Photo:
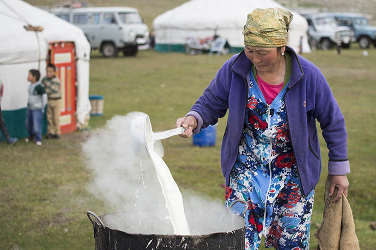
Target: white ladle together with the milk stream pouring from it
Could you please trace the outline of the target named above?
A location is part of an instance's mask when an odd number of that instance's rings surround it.
[[[154,143],[160,143],[161,139],[168,138],[184,132],[183,127],[154,133],[151,128],[150,118],[147,114],[138,116],[131,121],[130,139],[133,153],[140,158],[151,158],[157,174],[162,193],[166,200],[166,208],[169,212],[174,233],[189,235],[190,229],[186,221],[182,196],[175,180],[173,179],[168,166],[161,158],[163,147],[157,146],[154,150]]]

